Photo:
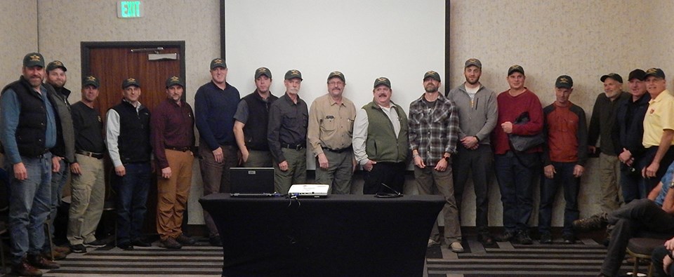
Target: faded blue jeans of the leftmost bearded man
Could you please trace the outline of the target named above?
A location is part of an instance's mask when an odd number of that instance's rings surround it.
[[[5,160],[9,181],[9,236],[11,259],[19,264],[28,254],[39,254],[44,244],[44,221],[51,207],[51,154],[41,158],[21,156],[28,178],[16,180],[11,162]]]

